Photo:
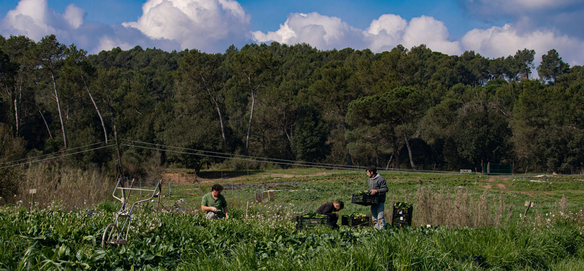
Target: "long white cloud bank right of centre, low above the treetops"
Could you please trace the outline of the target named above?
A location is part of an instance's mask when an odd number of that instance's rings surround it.
[[[353,47],[370,48],[381,52],[403,44],[406,48],[426,44],[433,51],[461,54],[460,43],[449,41],[444,23],[429,16],[413,18],[409,23],[399,15],[385,14],[374,19],[366,30],[356,29],[338,17],[291,13],[276,31],[255,31],[253,40],[258,43],[308,43],[320,50]]]

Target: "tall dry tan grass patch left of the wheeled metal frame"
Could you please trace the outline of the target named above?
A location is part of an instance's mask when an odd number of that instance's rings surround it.
[[[17,197],[31,206],[29,189],[36,189],[33,206],[44,207],[58,201],[65,207],[84,208],[107,199],[114,185],[113,180],[103,177],[98,171],[39,164],[24,172]]]

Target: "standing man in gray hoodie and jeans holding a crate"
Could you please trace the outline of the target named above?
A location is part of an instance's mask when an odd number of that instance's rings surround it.
[[[373,217],[373,226],[378,230],[385,227],[385,217],[383,216],[383,211],[385,210],[385,192],[389,189],[385,183],[385,178],[383,178],[379,173],[377,173],[377,168],[373,165],[367,167],[367,177],[369,177],[369,189],[371,195],[379,194],[379,200],[377,204],[371,205],[371,216]]]

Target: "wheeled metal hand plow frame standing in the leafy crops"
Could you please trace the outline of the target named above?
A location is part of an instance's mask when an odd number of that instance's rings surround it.
[[[128,240],[128,232],[130,231],[130,222],[132,219],[132,211],[134,210],[134,207],[140,202],[145,202],[145,201],[151,200],[155,196],[161,195],[160,192],[158,193],[158,195],[156,194],[157,190],[161,191],[160,190],[161,189],[161,187],[160,187],[161,182],[160,181],[156,184],[156,187],[154,189],[132,188],[132,186],[134,185],[134,180],[132,180],[132,182],[130,184],[130,188],[124,188],[123,184],[120,187],[120,182],[121,182],[121,178],[118,179],[117,184],[116,184],[116,188],[114,188],[112,196],[114,198],[116,198],[117,200],[120,200],[121,207],[120,207],[120,210],[116,214],[116,221],[112,224],[107,225],[106,229],[103,231],[102,248],[105,248],[106,245],[119,246],[119,245],[126,244],[126,241]],[[121,190],[121,199],[116,196],[116,191],[118,189]],[[128,191],[127,195],[124,192],[126,190]],[[128,202],[128,198],[130,198],[130,192],[132,192],[132,190],[152,191],[152,195],[148,199],[142,199],[142,200],[138,200],[137,202],[134,202],[132,207],[130,208],[130,210],[128,212],[126,212],[126,204]],[[124,223],[122,224],[121,228],[119,227],[120,217],[124,220]],[[126,230],[126,234],[124,234],[124,230]]]

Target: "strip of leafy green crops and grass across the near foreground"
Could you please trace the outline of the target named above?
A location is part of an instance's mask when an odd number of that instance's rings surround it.
[[[271,211],[270,211],[271,210]],[[270,212],[268,212],[270,211]],[[129,242],[99,247],[112,212],[0,208],[2,270],[581,270],[582,214],[502,228],[315,227],[274,209],[244,219],[137,212]]]

